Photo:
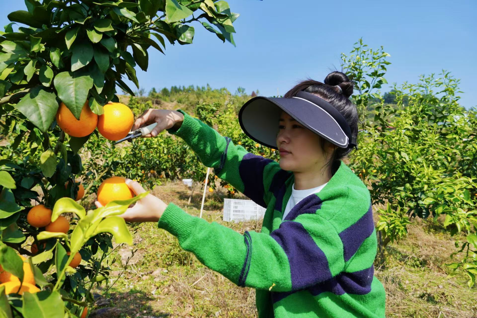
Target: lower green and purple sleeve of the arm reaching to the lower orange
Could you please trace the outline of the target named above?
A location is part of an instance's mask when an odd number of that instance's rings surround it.
[[[302,200],[303,201],[303,200]],[[342,241],[334,227],[316,213],[316,205],[301,205],[293,220],[270,235],[244,235],[188,215],[170,203],[158,227],[177,236],[179,245],[241,287],[287,292],[332,278],[344,267]]]

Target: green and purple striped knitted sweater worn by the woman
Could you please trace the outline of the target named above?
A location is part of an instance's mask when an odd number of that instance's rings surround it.
[[[158,227],[207,267],[238,286],[255,288],[259,318],[383,318],[385,292],[373,267],[377,239],[371,197],[361,179],[342,162],[319,193],[302,199],[282,221],[293,173],[179,112],[184,122],[168,132],[267,210],[261,232],[242,235],[170,203]]]

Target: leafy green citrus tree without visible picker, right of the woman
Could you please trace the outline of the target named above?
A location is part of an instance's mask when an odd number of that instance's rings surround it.
[[[459,105],[459,81],[443,71],[421,76],[417,84],[394,84],[396,104],[385,104],[372,89],[385,83],[389,54],[355,43],[343,66],[356,80],[353,98],[367,109],[371,97],[374,119],[363,121],[359,150],[351,167],[372,187],[381,247],[403,238],[411,218],[445,215],[444,226],[456,240],[460,259],[446,264],[449,277],[467,275],[472,287],[477,275],[477,113]],[[405,101],[405,103],[404,103]]]

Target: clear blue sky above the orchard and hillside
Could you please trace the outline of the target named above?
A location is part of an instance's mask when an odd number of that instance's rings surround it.
[[[0,25],[8,12],[25,10],[23,1],[2,1]],[[388,82],[414,83],[420,74],[451,71],[461,79],[461,104],[476,106],[473,77],[477,74],[475,19],[477,1],[318,1],[229,0],[237,47],[222,43],[199,22],[194,42],[166,43],[166,55],[149,49],[148,72],[136,67],[148,92],[172,85],[241,86],[247,93],[284,94],[297,81],[323,81],[340,68],[340,53],[363,37],[372,48],[391,54]],[[134,84],[128,82],[135,90]],[[119,89],[119,88],[118,88]],[[383,92],[389,91],[389,86]]]

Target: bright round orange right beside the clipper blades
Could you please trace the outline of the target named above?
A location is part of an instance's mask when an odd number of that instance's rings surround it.
[[[122,103],[107,103],[103,109],[104,114],[98,117],[98,131],[109,140],[124,138],[133,127],[133,112]]]

